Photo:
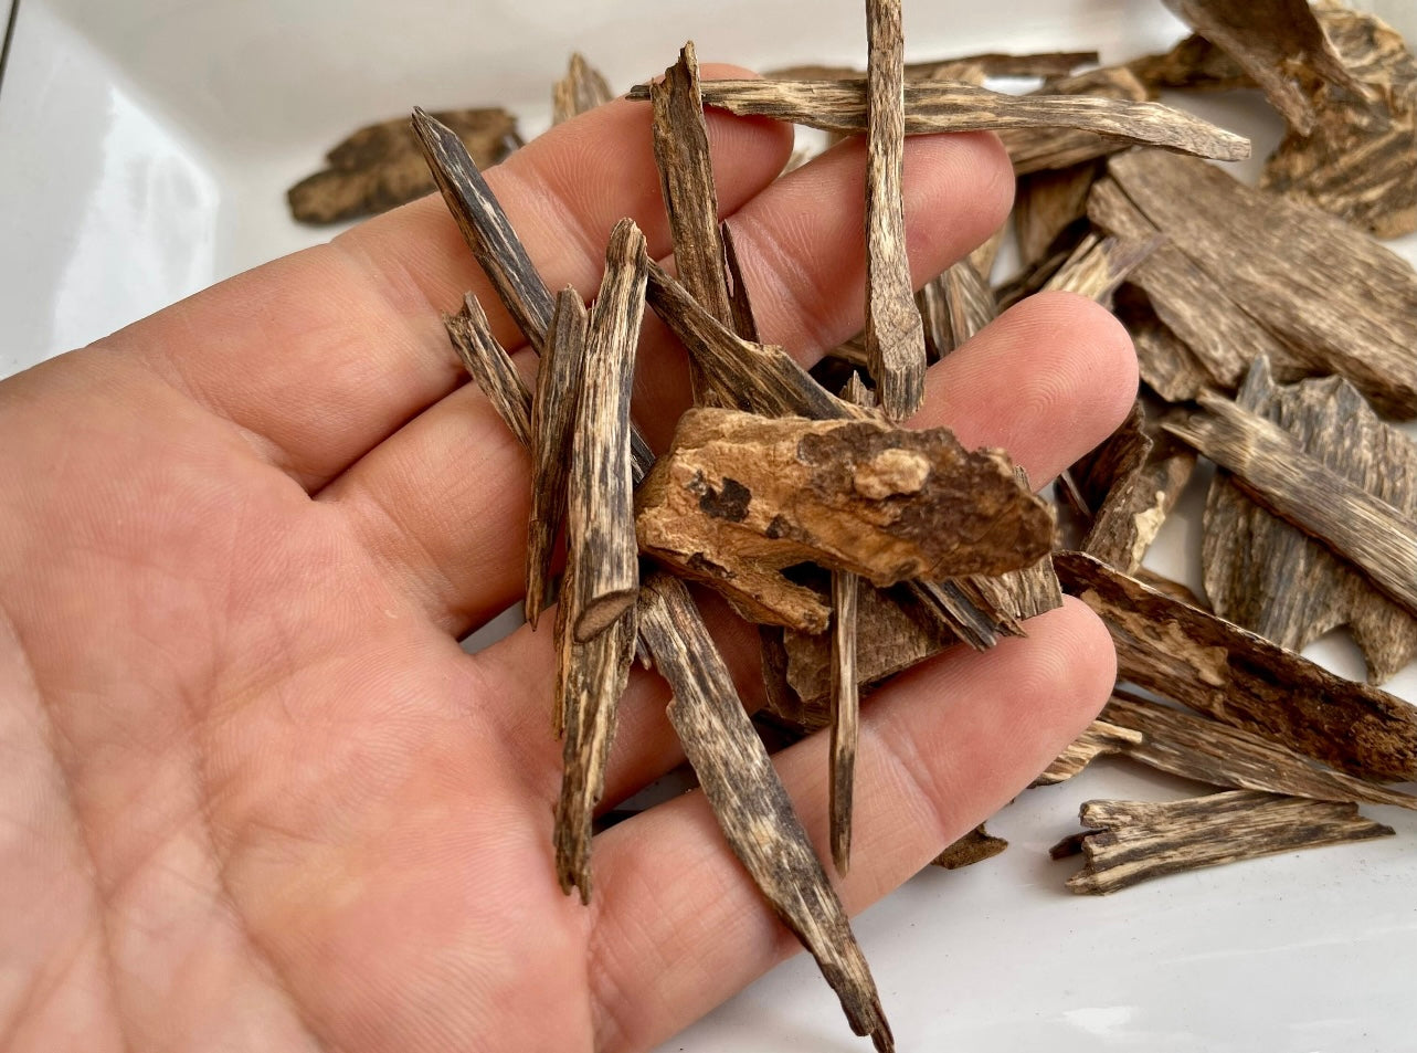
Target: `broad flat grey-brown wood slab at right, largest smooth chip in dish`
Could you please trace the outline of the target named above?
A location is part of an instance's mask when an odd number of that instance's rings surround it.
[[[1139,150],[1112,157],[1108,173],[1170,241],[1134,281],[1187,343],[1195,346],[1192,334],[1163,312],[1168,300],[1182,303],[1193,319],[1243,315],[1258,323],[1268,340],[1231,343],[1244,349],[1230,351],[1241,371],[1250,357],[1265,353],[1284,378],[1292,378],[1287,363],[1298,371],[1335,373],[1383,412],[1417,414],[1417,274],[1407,261],[1325,213],[1246,187],[1213,164]],[[1176,254],[1209,279],[1203,289],[1168,291],[1148,281],[1153,262]],[[1238,376],[1226,387],[1236,383]]]

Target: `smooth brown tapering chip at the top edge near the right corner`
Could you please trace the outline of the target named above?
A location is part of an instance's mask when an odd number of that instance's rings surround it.
[[[1314,129],[1308,82],[1363,94],[1323,35],[1308,0],[1165,0],[1190,28],[1223,48],[1299,135]]]

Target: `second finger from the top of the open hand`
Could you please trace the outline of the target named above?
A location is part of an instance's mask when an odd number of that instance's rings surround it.
[[[862,325],[863,166],[863,149],[847,143],[778,180],[731,220],[764,336],[803,361]],[[1009,173],[992,136],[910,140],[905,215],[920,281],[1003,221]],[[1091,323],[1074,325],[1087,330]],[[683,351],[662,329],[646,329],[636,415],[652,439],[663,439],[687,405]],[[1090,445],[1104,435],[1085,432]],[[520,595],[529,463],[482,394],[462,388],[371,451],[322,497],[340,502],[370,550],[407,577],[441,624],[462,632]]]

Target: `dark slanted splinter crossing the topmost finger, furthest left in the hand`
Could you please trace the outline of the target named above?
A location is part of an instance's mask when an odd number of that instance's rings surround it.
[[[478,171],[466,147],[445,125],[415,109],[414,132],[468,248],[496,289],[507,315],[517,323],[527,343],[541,354],[555,300],[531,264],[521,238],[512,228],[502,203]],[[638,429],[631,432],[631,448],[638,482],[655,463],[655,454]]]

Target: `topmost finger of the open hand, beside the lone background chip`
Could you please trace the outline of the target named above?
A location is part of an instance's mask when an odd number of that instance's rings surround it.
[[[706,75],[743,75],[731,67]],[[592,292],[605,237],[629,215],[669,251],[646,103],[567,122],[487,171],[547,283]],[[791,130],[708,115],[727,214],[775,177]],[[439,322],[472,289],[500,340],[520,334],[436,196],[330,245],[234,278],[111,337],[315,489],[462,383]]]

